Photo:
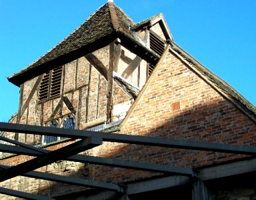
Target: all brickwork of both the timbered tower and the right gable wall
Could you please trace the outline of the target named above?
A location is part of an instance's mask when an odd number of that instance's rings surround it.
[[[102,53],[107,55],[107,49],[103,49]],[[97,51],[95,55],[101,57],[101,52]],[[101,62],[107,66],[104,56],[101,57]],[[84,58],[65,66],[71,67],[71,69],[65,71],[65,81],[69,80],[64,87],[65,95],[73,103],[75,109],[81,107],[79,111],[81,119],[79,127],[85,128],[87,122],[95,121],[95,119],[105,115],[107,81],[94,67],[91,67],[91,75],[89,75],[89,71],[84,70],[89,69],[89,63]],[[78,71],[83,73],[85,77],[74,79],[74,67],[78,67]],[[91,80],[89,80],[89,77]],[[77,84],[74,84],[73,81],[76,81]],[[31,87],[33,85],[32,82]],[[77,85],[79,85],[79,88]],[[27,95],[27,92],[24,94]],[[87,98],[89,98],[89,101],[87,101]],[[129,95],[114,84],[113,105],[129,100]],[[81,105],[79,105],[79,102]],[[51,115],[57,103],[58,99],[55,99],[46,101],[43,104],[43,120],[46,120]],[[88,110],[87,103],[89,103]],[[98,113],[97,109],[95,109],[97,106],[99,107]],[[29,107],[29,115],[34,113],[31,107]],[[63,105],[62,112],[66,115],[70,111]],[[23,123],[23,118],[26,118],[25,116],[26,114],[22,116],[21,121]],[[243,115],[227,99],[222,97],[218,91],[205,83],[200,75],[192,71],[171,52],[167,52],[159,65],[155,67],[151,77],[143,87],[135,103],[133,103],[127,117],[125,117],[120,131],[120,133],[131,135],[249,146],[256,145],[255,132],[255,123]],[[65,145],[65,143],[53,145],[49,149],[57,149],[61,145]],[[100,157],[193,168],[241,157],[227,153],[145,147],[142,145],[107,142],[85,153]],[[1,159],[1,163],[17,165],[17,163],[26,159],[31,159],[31,157],[18,156]],[[119,169],[117,167],[85,166],[69,162],[53,163],[39,170],[114,183],[159,175],[158,173]],[[18,186],[18,183],[24,179],[27,182],[21,188],[21,186]],[[43,195],[68,193],[74,191],[74,189],[79,190],[79,187],[64,186],[59,183],[52,183],[51,181],[39,181],[23,177],[15,177],[0,185],[12,187],[13,189],[19,187],[17,189],[21,191],[35,191],[35,193]],[[60,186],[61,190],[59,190]]]

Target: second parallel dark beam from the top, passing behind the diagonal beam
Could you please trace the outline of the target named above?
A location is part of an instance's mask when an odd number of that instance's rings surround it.
[[[6,145],[4,145],[6,146]],[[11,146],[11,145],[10,145]],[[13,146],[11,146],[13,147]],[[40,156],[40,153],[28,151],[26,149],[22,149],[21,147],[15,147],[15,149],[11,149],[11,147],[6,148],[9,152],[12,153],[19,153],[23,152],[25,155],[31,156]],[[1,145],[0,145],[1,150]],[[6,152],[6,151],[5,151]],[[45,152],[50,152],[45,150]],[[21,153],[22,154],[22,153]],[[181,167],[171,167],[168,165],[155,165],[151,163],[139,163],[135,161],[123,161],[117,159],[108,159],[103,157],[95,157],[89,155],[72,155],[71,157],[63,158],[67,161],[75,161],[80,163],[90,163],[94,165],[105,165],[110,167],[120,167],[125,169],[137,169],[141,171],[151,171],[157,173],[167,173],[171,175],[184,175],[184,176],[192,176],[195,177],[196,174],[193,172],[192,169],[189,168],[181,168]],[[0,165],[1,167],[1,165]]]

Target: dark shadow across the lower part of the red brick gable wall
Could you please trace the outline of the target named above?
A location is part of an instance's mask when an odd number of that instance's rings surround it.
[[[145,133],[143,136],[147,137],[226,143],[233,145],[256,145],[255,123],[245,117],[241,111],[233,107],[233,105],[227,101],[219,101],[209,105],[197,105],[192,109],[179,111],[177,117],[161,119],[158,124],[148,123],[144,127],[141,127],[138,120],[137,125],[137,129],[130,131],[127,129],[127,132],[121,130],[120,133],[131,135],[141,135],[141,133]],[[108,142],[103,143],[101,147],[95,148],[94,154],[99,157],[111,159],[138,161],[142,163],[154,163],[175,167],[189,167],[192,169],[216,165],[220,162],[245,157],[244,155],[234,155],[231,153],[215,153]],[[49,173],[51,173],[51,171],[49,171]],[[61,175],[81,177],[93,181],[103,181],[105,183],[128,183],[131,181],[148,179],[149,177],[163,176],[161,173],[91,164],[85,164],[81,169],[77,170],[73,170],[72,168],[63,169]],[[85,187],[51,182],[47,187],[39,187],[38,193],[41,195],[55,196],[63,195],[64,193],[78,193],[85,189]]]

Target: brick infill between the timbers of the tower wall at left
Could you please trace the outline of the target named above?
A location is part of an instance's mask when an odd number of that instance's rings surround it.
[[[123,47],[122,47],[123,48]],[[134,59],[135,55],[127,49],[123,48],[126,52],[125,55],[130,59]],[[93,52],[93,55],[101,61],[101,63],[108,68],[109,65],[109,47],[99,49],[98,51]],[[119,62],[119,70],[125,70],[129,63]],[[141,79],[138,81],[138,69],[135,69],[133,72],[135,75],[131,75],[129,80],[138,85],[143,85],[146,79],[146,65],[143,61],[143,74],[141,74]],[[142,68],[141,68],[142,69]],[[93,67],[85,59],[81,57],[71,63],[67,63],[63,66],[63,95],[69,99],[72,103],[76,113],[71,113],[65,103],[61,103],[61,108],[57,110],[55,116],[52,117],[53,111],[55,111],[57,105],[61,102],[61,98],[57,97],[54,99],[49,99],[47,101],[39,102],[37,100],[37,91],[33,94],[31,102],[29,103],[28,109],[21,116],[20,123],[32,124],[32,125],[48,125],[50,121],[56,119],[58,121],[58,127],[61,127],[63,120],[65,120],[66,115],[71,115],[75,120],[79,120],[77,124],[77,129],[85,129],[87,125],[97,119],[104,119],[106,116],[106,102],[107,102],[107,81],[99,71]],[[29,92],[35,85],[37,77],[27,81],[24,84],[24,90],[21,99],[24,102],[29,97]],[[122,103],[129,102],[129,106],[133,103],[133,98],[127,94],[119,85],[113,82],[113,107],[115,105],[122,105]],[[22,108],[22,107],[21,107]],[[126,112],[127,110],[125,110]],[[123,109],[120,111],[115,111],[115,114],[119,115],[119,112],[123,112]],[[112,112],[113,113],[113,112]],[[125,113],[122,113],[125,115]],[[113,121],[117,121],[118,116],[112,116]],[[13,134],[14,137],[14,134]],[[35,135],[25,135],[19,134],[19,141],[40,144],[41,137]],[[47,147],[47,149],[58,149],[67,143],[53,144]],[[101,147],[91,149],[86,151],[86,154],[97,155]],[[6,157],[1,158],[1,165],[18,165],[23,163],[32,157],[28,156],[15,156],[15,157]],[[47,165],[38,169],[39,171],[54,173],[59,175],[74,176],[74,177],[83,177],[85,179],[94,179],[95,177],[95,166],[86,165],[81,163],[59,161],[51,165]],[[20,183],[24,184],[20,184]],[[32,179],[26,177],[15,177],[13,179],[4,181],[0,183],[1,187],[7,187],[11,189],[17,189],[19,191],[27,191],[30,193],[38,193],[41,195],[53,195],[61,193],[69,193],[71,191],[79,190],[80,187],[74,187],[70,185],[63,185],[60,183],[53,183],[52,181],[43,181],[39,179]],[[83,187],[84,189],[84,187]],[[0,195],[1,199],[15,199],[14,197],[8,197],[5,195]]]

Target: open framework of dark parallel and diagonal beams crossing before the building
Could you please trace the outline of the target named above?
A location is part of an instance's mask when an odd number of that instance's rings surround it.
[[[67,160],[81,163],[91,163],[94,165],[106,165],[110,167],[121,167],[126,169],[137,169],[141,171],[151,171],[163,173],[165,175],[179,175],[181,177],[197,177],[197,173],[190,168],[172,167],[168,165],[155,165],[151,163],[138,163],[134,161],[125,161],[117,159],[108,159],[103,157],[95,157],[89,155],[79,155],[82,151],[86,151],[93,147],[102,145],[103,141],[127,143],[157,147],[169,147],[179,149],[193,149],[199,151],[214,151],[223,153],[235,153],[242,155],[256,155],[256,147],[242,147],[238,145],[227,145],[219,143],[205,143],[197,141],[183,141],[175,139],[161,139],[156,137],[143,137],[137,135],[124,135],[115,133],[101,133],[95,131],[81,131],[70,129],[57,129],[51,127],[38,127],[33,125],[19,125],[13,123],[0,123],[0,131],[13,133],[27,133],[33,135],[48,135],[56,137],[67,137],[76,140],[65,147],[61,147],[55,151],[39,149],[32,145],[20,143],[6,137],[0,136],[0,141],[6,141],[13,145],[5,145],[0,143],[0,152],[13,153],[17,155],[30,155],[35,158],[25,161],[16,166],[0,165],[0,181],[5,181],[16,176],[33,177],[59,183],[67,183],[71,185],[79,185],[84,187],[99,188],[105,191],[115,191],[115,193],[127,193],[127,187],[112,183],[103,183],[97,181],[89,181],[75,177],[65,177],[63,175],[55,175],[50,173],[42,173],[34,171],[45,165],[49,165],[56,161]],[[126,188],[126,190],[124,189]],[[129,191],[129,189],[128,189]],[[13,189],[0,187],[0,193],[21,197],[25,199],[51,199],[49,197],[33,195]]]

